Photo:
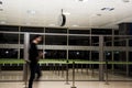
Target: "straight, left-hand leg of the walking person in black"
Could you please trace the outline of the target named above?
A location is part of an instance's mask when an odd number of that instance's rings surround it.
[[[30,74],[30,79],[29,79],[29,88],[32,88],[33,86],[33,80],[35,78],[35,69],[36,69],[35,65],[30,64],[31,74]]]

